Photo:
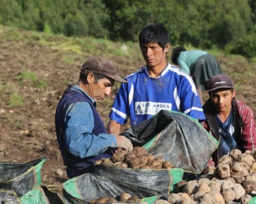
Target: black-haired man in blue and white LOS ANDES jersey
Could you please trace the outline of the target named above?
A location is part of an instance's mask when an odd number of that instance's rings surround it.
[[[139,36],[145,66],[127,76],[119,88],[109,114],[108,132],[119,134],[127,120],[137,125],[162,109],[179,111],[205,120],[193,79],[166,61],[169,34],[159,23],[151,23]]]

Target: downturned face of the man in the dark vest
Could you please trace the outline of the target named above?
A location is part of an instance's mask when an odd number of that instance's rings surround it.
[[[89,91],[89,95],[95,100],[103,100],[105,97],[110,96],[111,87],[114,85],[115,80],[110,78],[99,79],[98,82],[93,82]]]

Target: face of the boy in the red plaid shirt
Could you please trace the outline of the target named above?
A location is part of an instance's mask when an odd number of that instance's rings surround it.
[[[210,99],[217,112],[230,111],[233,97],[235,97],[235,91],[231,91],[231,89],[219,89],[210,92]]]

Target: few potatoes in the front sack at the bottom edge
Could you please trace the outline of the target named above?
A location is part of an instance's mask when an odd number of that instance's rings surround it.
[[[137,196],[132,196],[129,193],[122,193],[120,196],[117,197],[101,197],[99,199],[92,199],[89,202],[90,203],[97,203],[97,204],[102,204],[102,203],[108,203],[108,202],[127,202],[127,203],[132,203],[132,202],[138,202],[139,198]]]

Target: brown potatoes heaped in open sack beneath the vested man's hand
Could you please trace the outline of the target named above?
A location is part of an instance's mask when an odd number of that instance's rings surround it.
[[[117,148],[111,158],[97,160],[95,164],[105,164],[118,168],[133,169],[170,169],[171,162],[163,162],[161,157],[155,158],[143,147],[134,147],[128,152],[122,148]]]

